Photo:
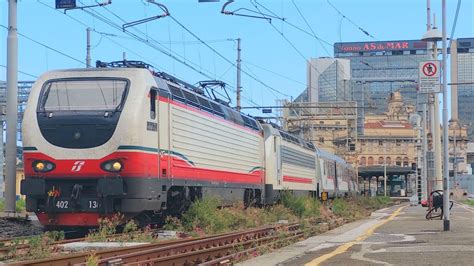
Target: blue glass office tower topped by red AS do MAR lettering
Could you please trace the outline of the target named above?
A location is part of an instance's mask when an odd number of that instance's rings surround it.
[[[334,44],[334,57],[350,60],[352,98],[365,113],[383,114],[391,92],[400,91],[406,103],[421,110],[418,65],[429,59],[422,41],[347,42]]]

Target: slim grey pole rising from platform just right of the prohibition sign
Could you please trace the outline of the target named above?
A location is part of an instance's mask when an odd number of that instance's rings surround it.
[[[446,80],[446,0],[442,0],[442,32],[443,32],[443,229],[449,231],[449,139],[448,139],[448,81]]]

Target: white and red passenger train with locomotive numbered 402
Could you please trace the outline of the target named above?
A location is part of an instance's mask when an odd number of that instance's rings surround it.
[[[45,73],[31,90],[21,192],[45,226],[96,226],[115,213],[147,222],[210,196],[263,205],[283,190],[356,190],[339,157],[200,88],[141,62],[102,66]]]

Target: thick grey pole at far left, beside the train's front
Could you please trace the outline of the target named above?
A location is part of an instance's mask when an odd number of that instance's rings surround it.
[[[16,133],[18,113],[18,33],[17,0],[8,0],[7,36],[7,142],[5,212],[14,213],[16,206]]]

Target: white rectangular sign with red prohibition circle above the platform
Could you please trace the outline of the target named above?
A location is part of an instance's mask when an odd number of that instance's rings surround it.
[[[418,84],[420,93],[439,93],[441,86],[439,82],[440,63],[439,60],[420,62],[418,68]]]

